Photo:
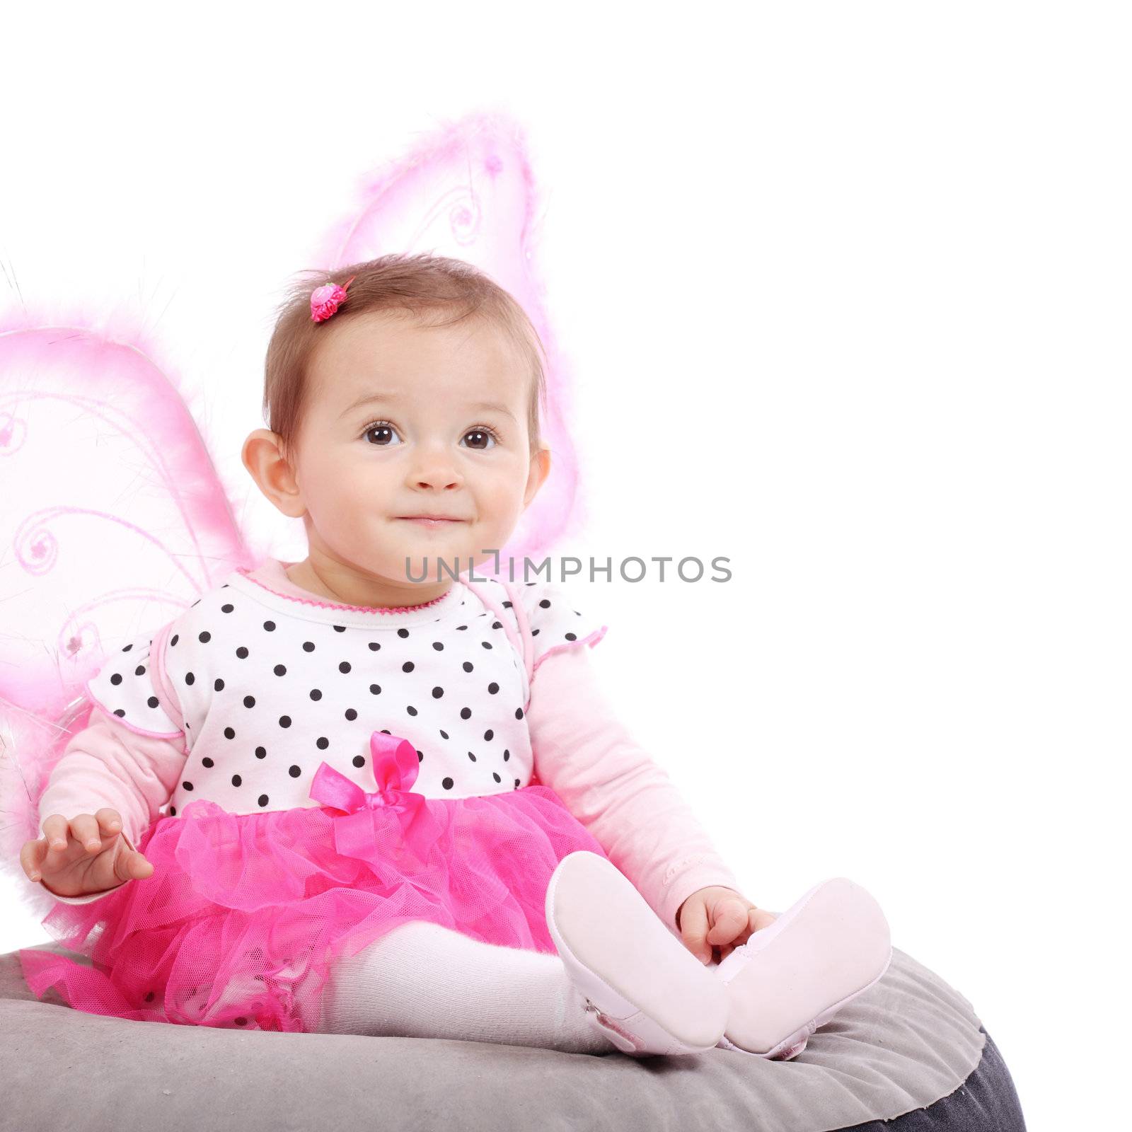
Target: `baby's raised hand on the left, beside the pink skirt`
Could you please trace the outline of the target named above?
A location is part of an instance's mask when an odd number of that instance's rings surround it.
[[[152,875],[153,865],[119,837],[121,830],[121,816],[109,806],[70,822],[52,814],[43,821],[44,835],[24,842],[19,863],[29,880],[42,878],[57,897],[104,892]]]

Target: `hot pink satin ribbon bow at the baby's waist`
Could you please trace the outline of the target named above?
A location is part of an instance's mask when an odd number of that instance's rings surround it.
[[[397,815],[409,849],[419,860],[428,860],[441,827],[424,796],[409,789],[417,781],[420,767],[417,748],[397,735],[374,731],[369,749],[377,781],[377,790],[372,794],[367,794],[327,762],[319,765],[311,780],[310,797],[315,801],[350,815],[334,823],[335,847],[350,857],[369,856],[376,840],[377,811],[386,808]]]

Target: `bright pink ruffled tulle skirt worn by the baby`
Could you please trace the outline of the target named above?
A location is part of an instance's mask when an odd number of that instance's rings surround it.
[[[310,1032],[335,960],[398,924],[555,953],[550,874],[577,849],[606,856],[558,795],[528,786],[419,808],[410,838],[391,807],[231,814],[192,801],[143,833],[151,876],[43,920],[91,966],[25,949],[24,977],[36,997],[55,987],[94,1014]]]

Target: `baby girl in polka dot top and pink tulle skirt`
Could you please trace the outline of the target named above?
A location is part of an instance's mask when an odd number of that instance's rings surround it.
[[[475,573],[551,471],[533,326],[443,257],[311,283],[242,453],[307,557],[89,681],[20,855],[89,962],[25,950],[28,985],[181,1024],[797,1055],[887,968],[875,901],[839,877],[756,907],[610,706],[606,626]]]

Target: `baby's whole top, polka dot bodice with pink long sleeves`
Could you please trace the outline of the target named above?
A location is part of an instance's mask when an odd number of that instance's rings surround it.
[[[110,806],[134,848],[195,798],[234,813],[317,805],[306,791],[321,760],[374,790],[355,752],[385,726],[420,748],[412,789],[426,796],[550,787],[674,934],[693,892],[738,891],[618,719],[589,657],[606,626],[578,612],[567,588],[458,581],[428,604],[378,610],[327,602],[294,585],[288,565],[234,572],[111,658],[88,685],[96,710],[52,771],[41,824]],[[438,730],[452,741],[437,741]],[[53,895],[85,903],[112,891]]]

